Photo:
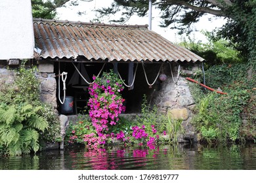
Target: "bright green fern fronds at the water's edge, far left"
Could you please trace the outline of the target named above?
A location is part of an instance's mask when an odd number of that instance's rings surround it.
[[[39,132],[48,122],[37,114],[39,108],[22,103],[0,105],[0,146],[9,156],[28,154],[39,150]]]

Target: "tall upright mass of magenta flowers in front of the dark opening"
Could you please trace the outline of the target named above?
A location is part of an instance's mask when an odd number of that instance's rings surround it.
[[[106,137],[108,127],[116,125],[118,115],[125,111],[123,106],[124,99],[121,97],[123,86],[117,75],[103,73],[101,78],[93,76],[94,83],[89,87],[89,116],[99,137]]]

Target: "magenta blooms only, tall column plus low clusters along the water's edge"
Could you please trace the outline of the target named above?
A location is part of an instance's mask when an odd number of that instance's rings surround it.
[[[132,142],[132,138],[135,138],[141,140],[142,143],[139,144],[146,143],[150,149],[154,149],[154,145],[159,139],[159,135],[156,134],[158,131],[154,125],[151,125],[151,128],[150,126],[145,127],[145,125],[131,127],[132,137],[129,136],[129,130],[119,131],[118,133],[116,133],[116,130],[114,130],[115,133],[110,131],[111,126],[119,122],[119,114],[125,111],[123,106],[125,100],[120,93],[123,86],[116,74],[110,71],[110,73],[103,73],[101,78],[93,76],[93,80],[93,84],[89,86],[91,97],[88,101],[89,116],[93,127],[90,128],[88,125],[80,127],[83,122],[79,122],[79,127],[72,131],[70,142],[83,142],[89,150],[96,150],[100,144],[105,144],[106,138],[116,138],[123,141],[124,145],[126,142]]]

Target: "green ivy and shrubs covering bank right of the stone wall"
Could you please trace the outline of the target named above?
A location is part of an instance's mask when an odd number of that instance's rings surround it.
[[[256,77],[247,79],[247,65],[215,65],[205,71],[206,84],[221,88],[228,95],[214,92],[198,92],[192,95],[198,101],[194,124],[206,141],[236,141],[255,139],[255,101],[253,89]],[[242,114],[249,116],[247,127],[242,123]],[[246,129],[246,130],[245,130]],[[243,132],[243,133],[242,133]]]

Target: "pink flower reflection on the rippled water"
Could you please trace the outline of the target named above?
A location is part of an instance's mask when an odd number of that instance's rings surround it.
[[[161,151],[164,154],[166,151]],[[72,157],[72,168],[74,169],[94,169],[94,170],[114,170],[121,169],[131,163],[131,168],[144,167],[150,161],[156,161],[160,154],[160,148],[125,148],[112,150],[111,152],[104,148],[97,148],[83,152],[70,152]],[[76,167],[75,167],[76,166]]]

